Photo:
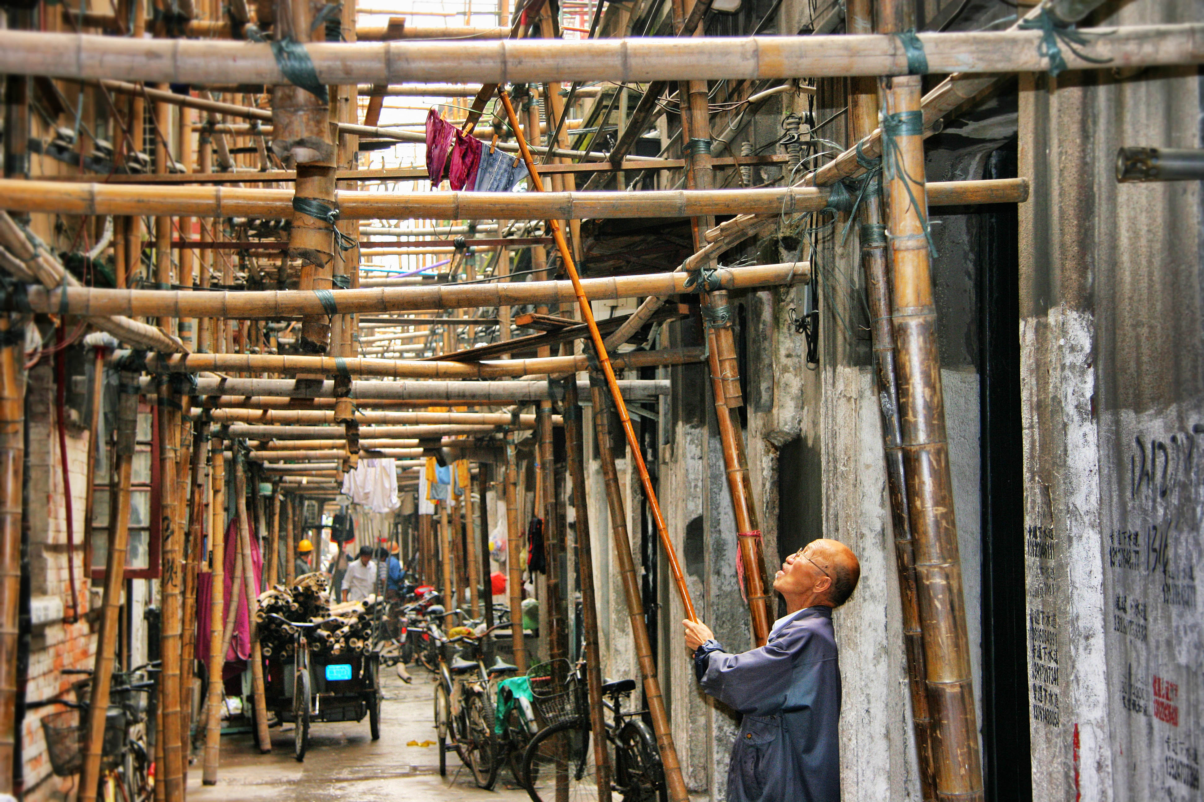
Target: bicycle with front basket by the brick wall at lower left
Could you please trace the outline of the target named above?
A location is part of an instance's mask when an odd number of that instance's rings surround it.
[[[153,693],[154,682],[135,679],[143,672],[155,671],[157,665],[146,664],[132,671],[113,673],[98,786],[98,798],[105,802],[147,802],[154,796],[154,762],[142,729],[147,709],[143,694]],[[90,675],[92,671],[67,669],[63,673]],[[51,770],[57,777],[72,777],[83,771],[90,685],[90,677],[73,683],[75,701],[53,697],[26,703],[31,709],[51,705],[67,708],[41,719]]]

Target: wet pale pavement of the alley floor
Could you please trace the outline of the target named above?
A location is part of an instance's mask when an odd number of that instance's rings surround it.
[[[413,684],[382,667],[384,702],[380,739],[368,735],[367,717],[360,723],[309,725],[305,762],[293,759],[293,725],[275,726],[272,751],[259,754],[250,735],[222,738],[222,766],[217,785],[201,785],[200,762],[188,772],[188,798],[193,802],[393,802],[395,800],[448,800],[449,802],[525,802],[506,768],[492,791],[483,791],[472,773],[448,753],[447,777],[438,773],[438,745],[432,719],[433,677],[411,669]],[[429,745],[408,745],[411,743]]]

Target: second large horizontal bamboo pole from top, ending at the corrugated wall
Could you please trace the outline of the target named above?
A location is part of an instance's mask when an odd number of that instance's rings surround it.
[[[2,34],[4,31],[0,31]],[[2,40],[2,36],[0,36]],[[232,179],[237,180],[237,179]],[[927,185],[931,206],[1016,203],[1028,182],[1005,178]],[[798,214],[827,206],[828,189],[657,190],[649,192],[338,192],[344,220],[579,220],[585,218],[694,218],[715,214]],[[52,214],[291,218],[293,190],[222,186],[140,186],[0,179],[0,208]]]

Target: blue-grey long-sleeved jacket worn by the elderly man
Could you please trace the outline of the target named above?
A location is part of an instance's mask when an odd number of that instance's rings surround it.
[[[839,802],[840,666],[831,607],[779,619],[761,648],[695,653],[702,689],[743,713],[728,802]]]

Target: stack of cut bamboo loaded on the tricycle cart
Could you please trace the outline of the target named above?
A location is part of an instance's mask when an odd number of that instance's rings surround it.
[[[291,588],[278,584],[260,594],[256,622],[264,657],[293,653],[293,628],[281,618],[315,624],[306,628],[309,650],[315,657],[346,657],[371,650],[376,596],[331,606],[326,584],[325,575],[306,574]]]

